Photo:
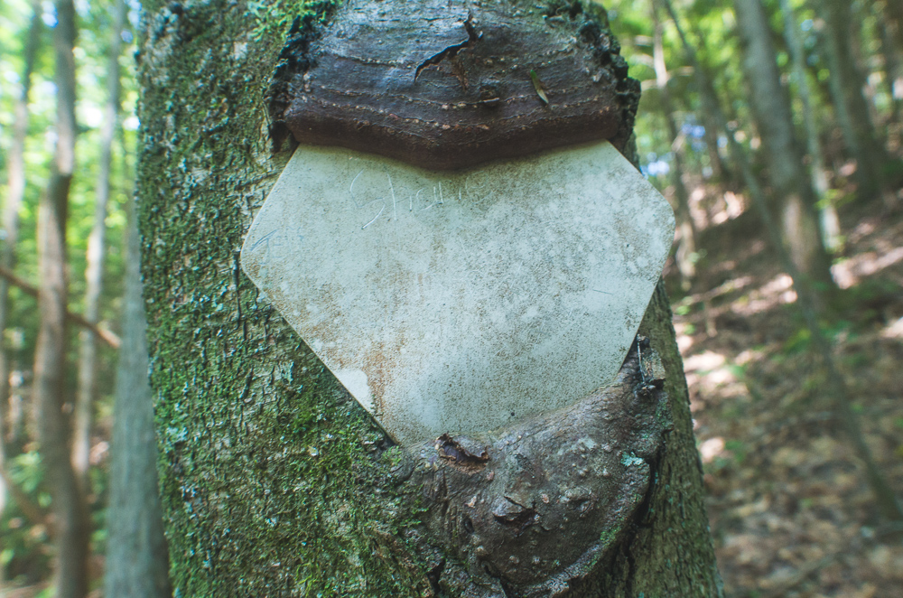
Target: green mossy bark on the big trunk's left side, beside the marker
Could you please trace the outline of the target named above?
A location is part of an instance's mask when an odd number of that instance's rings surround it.
[[[374,494],[384,435],[237,269],[288,157],[266,138],[273,31],[303,7],[270,7],[261,34],[242,3],[144,5],[144,294],[177,595],[424,592],[386,539],[410,513]]]

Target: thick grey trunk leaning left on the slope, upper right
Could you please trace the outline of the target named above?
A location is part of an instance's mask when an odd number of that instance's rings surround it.
[[[781,87],[768,16],[760,0],[734,0],[734,6],[749,103],[762,138],[768,177],[780,201],[782,236],[796,267],[813,280],[831,285],[830,262],[815,216],[815,196],[806,183],[809,177],[794,135],[787,89]]]

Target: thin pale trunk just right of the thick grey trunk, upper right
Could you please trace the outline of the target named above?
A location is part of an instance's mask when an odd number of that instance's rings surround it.
[[[818,137],[818,125],[815,123],[815,114],[812,110],[812,99],[809,92],[809,81],[805,76],[805,52],[803,41],[800,39],[799,25],[793,14],[793,7],[789,0],[781,0],[781,13],[784,14],[784,37],[787,39],[787,47],[793,55],[793,72],[796,77],[796,92],[799,94],[803,107],[803,121],[805,123],[805,141],[809,150],[809,175],[812,180],[812,189],[815,191],[815,199],[819,206],[819,223],[822,230],[822,241],[826,248],[837,250],[841,244],[840,219],[833,203],[828,199],[828,175],[824,168],[824,154],[822,142]]]

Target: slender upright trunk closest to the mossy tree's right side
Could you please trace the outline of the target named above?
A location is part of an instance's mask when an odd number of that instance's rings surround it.
[[[677,230],[680,240],[677,246],[675,260],[677,269],[681,275],[681,285],[684,291],[690,288],[694,276],[696,276],[696,227],[693,217],[690,215],[690,196],[684,185],[684,156],[678,144],[678,130],[675,123],[674,105],[671,102],[671,93],[668,90],[668,70],[665,63],[665,49],[662,44],[662,23],[658,21],[658,3],[652,6],[653,23],[655,23],[655,40],[653,42],[653,62],[656,68],[656,88],[662,100],[662,110],[671,136],[671,148],[674,154],[674,169],[671,180],[675,188],[675,215],[677,216]]]

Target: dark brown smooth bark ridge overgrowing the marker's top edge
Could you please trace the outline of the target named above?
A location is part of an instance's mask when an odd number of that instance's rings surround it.
[[[346,0],[293,29],[271,117],[301,143],[443,170],[600,139],[623,149],[639,85],[619,50],[604,11],[579,2]]]

